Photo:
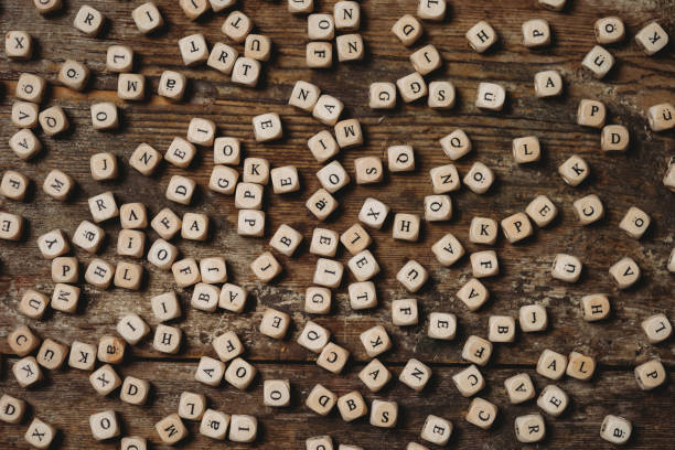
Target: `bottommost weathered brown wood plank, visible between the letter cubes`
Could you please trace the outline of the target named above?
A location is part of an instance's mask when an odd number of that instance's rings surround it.
[[[394,379],[376,395],[369,393],[356,377],[362,365],[350,365],[347,372],[340,376],[307,364],[256,364],[256,367],[260,374],[254,385],[247,392],[239,392],[227,385],[214,388],[195,382],[196,362],[135,361],[119,367],[119,373],[151,382],[151,399],[143,407],[122,403],[118,398],[118,390],[109,398],[98,397],[88,384],[88,373],[75,369],[49,373],[44,386],[40,389],[21,389],[13,379],[3,381],[2,385],[3,392],[24,398],[38,417],[62,430],[62,448],[116,448],[118,443],[115,441],[100,444],[92,438],[88,416],[105,409],[114,409],[120,415],[124,436],[139,435],[149,439],[152,448],[163,448],[159,444],[154,424],[175,411],[181,392],[190,390],[206,395],[210,407],[214,409],[258,417],[261,432],[256,443],[233,446],[228,442],[228,448],[300,449],[303,448],[304,439],[311,436],[331,435],[338,442],[360,444],[373,450],[403,449],[408,441],[420,441],[419,432],[429,414],[452,421],[452,448],[527,448],[517,444],[513,420],[518,415],[537,411],[538,407],[535,400],[510,405],[503,382],[516,373],[526,372],[532,376],[537,393],[549,384],[531,368],[523,371],[514,367],[486,367],[482,371],[486,387],[479,396],[495,403],[500,411],[494,427],[490,431],[483,431],[464,420],[471,399],[462,397],[451,379],[461,367],[435,366],[429,385],[419,394]],[[396,378],[401,366],[389,368]],[[272,378],[291,381],[291,407],[272,409],[262,406],[262,379]],[[338,395],[357,389],[364,395],[368,406],[375,398],[397,401],[400,416],[396,428],[383,430],[372,427],[367,418],[346,424],[340,418],[338,410],[333,410],[328,417],[317,416],[304,406],[304,400],[315,383],[321,383]],[[672,420],[664,420],[664,416],[655,411],[667,411],[675,407],[672,383],[654,392],[644,393],[635,384],[632,373],[601,371],[589,383],[566,378],[557,384],[570,395],[571,401],[569,409],[559,418],[545,417],[548,436],[542,443],[545,448],[607,448],[599,437],[600,424],[607,414],[619,415],[633,422],[634,438],[630,442],[631,448],[668,448]],[[76,411],[73,411],[74,405],[77,405]],[[215,443],[199,435],[197,424],[190,422],[188,427],[191,437],[180,447],[207,449]],[[22,448],[24,428],[25,424],[0,424],[0,446]]]

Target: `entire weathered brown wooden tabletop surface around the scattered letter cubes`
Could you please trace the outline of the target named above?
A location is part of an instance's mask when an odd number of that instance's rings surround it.
[[[60,430],[58,447],[72,449],[116,448],[119,442],[96,443],[88,427],[88,416],[104,410],[119,413],[125,436],[140,435],[161,448],[153,425],[176,410],[183,390],[204,393],[215,409],[226,413],[254,414],[260,420],[260,432],[254,444],[228,448],[301,449],[304,439],[330,433],[335,442],[353,443],[365,449],[403,449],[408,441],[419,439],[421,425],[429,414],[442,416],[454,425],[451,448],[513,449],[522,448],[515,440],[513,420],[516,416],[537,411],[534,401],[510,405],[503,381],[516,373],[529,374],[537,393],[548,383],[535,373],[536,361],[544,349],[560,353],[580,351],[594,356],[599,363],[590,382],[566,377],[558,384],[571,396],[571,405],[561,417],[545,416],[546,440],[535,448],[579,449],[608,448],[599,437],[600,422],[607,414],[623,416],[633,422],[631,448],[672,448],[675,429],[672,411],[675,396],[672,383],[653,392],[642,392],[635,383],[633,368],[653,357],[660,357],[672,381],[675,368],[673,340],[649,344],[640,322],[658,312],[674,319],[674,276],[666,270],[673,248],[675,231],[675,194],[662,183],[667,161],[675,156],[673,131],[655,133],[646,121],[650,106],[675,100],[675,60],[673,44],[653,57],[636,46],[634,34],[651,20],[658,20],[675,38],[675,2],[672,0],[570,0],[562,13],[539,10],[533,0],[451,1],[448,18],[441,23],[425,22],[425,38],[420,42],[439,49],[444,61],[441,71],[428,79],[450,79],[458,88],[458,106],[450,111],[435,111],[426,101],[400,105],[395,110],[375,111],[367,106],[368,85],[373,82],[394,82],[413,72],[408,60],[413,49],[404,47],[390,33],[392,24],[404,13],[415,14],[417,2],[373,0],[362,3],[362,34],[366,43],[366,58],[356,64],[335,63],[331,69],[309,69],[304,62],[306,18],[293,17],[285,1],[251,0],[239,2],[239,8],[255,22],[257,30],[274,42],[274,56],[264,63],[264,75],[257,88],[239,87],[218,72],[201,66],[182,65],[176,41],[188,34],[203,33],[210,44],[227,42],[221,32],[223,14],[208,12],[190,22],[175,1],[159,0],[158,6],[168,22],[164,31],[151,36],[141,35],[131,19],[131,10],[140,2],[90,0],[88,4],[106,15],[107,25],[101,36],[83,36],[72,25],[81,1],[67,1],[63,12],[42,18],[32,2],[4,2],[0,6],[3,31],[25,30],[36,41],[35,56],[29,62],[8,61],[0,56],[0,169],[15,169],[32,180],[25,202],[0,200],[0,210],[21,214],[28,219],[24,239],[0,243],[0,390],[24,398],[31,414],[53,424]],[[331,12],[333,2],[317,2],[317,12]],[[617,66],[609,76],[597,81],[580,67],[583,55],[594,45],[593,22],[601,17],[618,15],[625,21],[629,39],[612,45]],[[550,22],[554,44],[542,51],[531,51],[521,44],[521,24],[533,18]],[[468,49],[464,33],[479,20],[489,20],[500,35],[495,51],[484,55]],[[126,44],[136,52],[135,72],[147,76],[150,95],[146,101],[126,103],[116,94],[117,76],[105,69],[106,49]],[[237,45],[242,50],[242,45]],[[93,81],[84,93],[75,93],[57,82],[57,71],[64,60],[85,62],[93,71]],[[565,95],[555,99],[538,99],[534,95],[533,78],[538,71],[556,68],[565,79]],[[158,97],[157,84],[162,71],[175,69],[189,77],[185,101],[174,105]],[[15,82],[22,72],[36,73],[50,82],[43,103],[61,105],[71,119],[71,129],[61,137],[40,133],[43,152],[34,160],[20,161],[9,149],[8,139],[15,132],[10,109],[15,100]],[[356,186],[353,182],[339,192],[339,211],[324,224],[304,207],[307,197],[319,188],[314,173],[321,164],[307,149],[307,139],[325,127],[309,115],[287,105],[298,79],[317,84],[323,93],[342,99],[345,117],[357,118],[363,125],[365,144],[343,151],[339,160],[353,174],[353,161],[363,156],[383,156],[390,144],[411,144],[416,151],[415,172],[386,175],[385,182],[374,186]],[[480,111],[473,105],[480,82],[499,82],[507,90],[507,106],[503,113]],[[631,147],[625,154],[603,154],[600,131],[576,125],[576,109],[581,98],[594,98],[608,107],[608,122],[626,126]],[[121,128],[114,132],[98,132],[90,125],[89,106],[95,101],[115,101],[121,113]],[[400,100],[399,100],[400,103]],[[251,129],[254,115],[275,111],[283,122],[282,140],[256,143]],[[242,139],[245,156],[267,158],[272,167],[298,167],[302,189],[291,195],[275,195],[266,190],[267,224],[265,238],[243,238],[236,233],[237,212],[229,196],[207,190],[213,168],[212,150],[201,148],[188,170],[162,163],[151,178],[140,175],[128,165],[131,151],[140,142],[148,142],[161,152],[174,136],[185,136],[192,117],[214,120],[218,135]],[[309,254],[309,240],[315,226],[342,233],[357,219],[358,210],[367,196],[388,204],[393,212],[422,212],[422,199],[431,193],[429,169],[448,163],[438,140],[456,128],[462,128],[473,141],[474,150],[456,162],[463,175],[471,164],[482,161],[496,174],[496,183],[485,195],[476,195],[465,188],[452,194],[453,217],[447,223],[422,224],[418,243],[395,242],[390,219],[382,231],[368,231],[374,237],[373,251],[382,267],[377,276],[379,306],[371,311],[352,311],[346,286],[353,281],[349,270],[342,286],[334,290],[330,315],[310,317],[303,312],[304,289],[311,285],[317,257]],[[532,165],[518,165],[511,154],[511,141],[534,135],[543,146],[543,159]],[[120,176],[113,182],[96,182],[90,178],[89,157],[109,151],[120,162]],[[591,176],[578,188],[566,185],[557,174],[557,167],[571,154],[579,154],[591,167]],[[42,181],[51,169],[62,169],[75,178],[75,195],[61,203],[45,195]],[[169,179],[184,174],[197,181],[199,190],[192,205],[184,207],[164,199]],[[231,280],[249,290],[246,311],[234,314],[223,310],[215,313],[189,307],[191,289],[175,287],[172,276],[154,266],[146,269],[143,288],[99,290],[84,283],[82,304],[76,314],[50,312],[43,320],[30,320],[18,312],[23,291],[34,288],[51,293],[53,282],[50,262],[42,259],[35,239],[58,227],[72,235],[77,224],[89,218],[87,199],[104,191],[113,191],[118,204],[143,202],[150,214],[164,206],[176,213],[199,211],[208,214],[208,239],[195,243],[175,239],[181,255],[202,258],[223,255],[228,262]],[[582,227],[574,217],[571,204],[576,199],[596,193],[606,207],[606,217]],[[490,301],[479,311],[469,312],[454,297],[459,287],[470,278],[468,258],[451,268],[442,267],[430,247],[443,234],[458,236],[468,251],[484,249],[469,243],[469,224],[474,216],[497,221],[524,211],[538,194],[548,195],[559,207],[555,223],[536,229],[535,235],[512,245],[500,237],[494,246],[499,254],[501,274],[485,279]],[[619,222],[630,206],[638,206],[652,217],[652,226],[641,240],[619,229]],[[257,281],[248,265],[268,249],[269,237],[282,223],[300,231],[304,244],[293,258],[279,256],[282,276],[270,285]],[[103,225],[107,238],[99,253],[108,261],[118,261],[115,243],[119,223]],[[157,235],[149,231],[153,240]],[[79,249],[75,255],[86,267],[90,256]],[[550,264],[557,253],[577,255],[585,269],[578,283],[554,280]],[[610,280],[608,268],[623,256],[634,258],[643,276],[625,291],[618,290]],[[345,262],[350,255],[341,249],[339,258]],[[390,302],[410,297],[396,281],[396,272],[408,260],[421,262],[430,274],[425,288],[415,294],[421,306],[418,326],[397,328],[390,321]],[[150,308],[150,298],[174,289],[183,304],[184,315],[174,321],[184,331],[181,352],[171,357],[156,352],[151,339],[128,349],[122,375],[149,379],[153,394],[147,406],[136,407],[119,400],[117,394],[100,398],[88,384],[88,373],[72,368],[49,372],[40,387],[22,389],[11,374],[15,356],[10,355],[4,336],[17,325],[29,324],[42,339],[52,338],[64,343],[75,340],[96,343],[104,334],[115,334],[117,320],[127,312],[139,313],[153,328],[158,324]],[[582,319],[579,299],[583,294],[607,292],[612,313],[601,322]],[[479,395],[500,407],[500,418],[490,431],[481,430],[464,420],[470,403],[460,396],[451,376],[467,363],[460,357],[462,345],[471,334],[486,336],[488,320],[493,314],[517,315],[523,304],[538,303],[547,308],[549,325],[543,333],[518,333],[513,344],[496,344],[490,364],[483,373],[486,388]],[[261,313],[274,307],[291,314],[293,324],[283,341],[275,341],[258,332]],[[433,341],[426,336],[428,313],[453,312],[458,317],[457,339]],[[296,343],[307,320],[314,320],[331,330],[333,341],[352,354],[346,369],[333,375],[315,365],[315,355]],[[393,381],[378,394],[371,393],[356,377],[367,362],[358,334],[369,326],[383,324],[389,332],[394,347],[382,361],[398,376],[410,357],[430,364],[433,375],[429,385],[415,393],[398,381]],[[211,345],[214,336],[233,330],[242,339],[245,357],[259,369],[253,386],[238,392],[229,385],[214,388],[194,381],[194,371],[202,355],[215,356]],[[262,381],[289,378],[293,398],[290,408],[271,409],[262,406]],[[369,404],[375,398],[396,400],[400,417],[396,428],[383,430],[368,425],[367,419],[345,424],[333,411],[318,417],[304,406],[311,387],[321,383],[339,395],[358,389]],[[671,411],[671,414],[668,413]],[[20,426],[0,424],[0,448],[25,448]],[[199,424],[188,425],[191,437],[184,448],[211,448],[218,444],[199,435]],[[433,446],[430,446],[433,447]]]

